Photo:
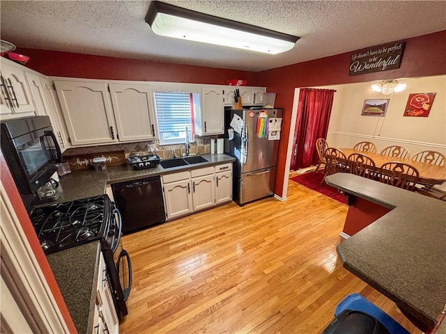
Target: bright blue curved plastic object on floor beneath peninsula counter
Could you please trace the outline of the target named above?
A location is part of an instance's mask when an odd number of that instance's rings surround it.
[[[361,311],[377,319],[392,334],[410,334],[397,321],[394,321],[390,315],[375,306],[360,294],[349,294],[341,303],[337,305],[334,311],[334,317],[337,317],[344,310]]]

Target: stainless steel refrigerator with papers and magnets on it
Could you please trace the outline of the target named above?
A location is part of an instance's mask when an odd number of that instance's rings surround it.
[[[259,116],[268,127],[259,134]],[[262,114],[263,112],[263,114]],[[263,117],[262,117],[263,116]],[[243,206],[247,202],[274,195],[280,132],[270,126],[282,122],[282,109],[241,109],[224,111],[224,152],[236,158],[233,167],[233,200]],[[280,125],[280,123],[279,123]]]

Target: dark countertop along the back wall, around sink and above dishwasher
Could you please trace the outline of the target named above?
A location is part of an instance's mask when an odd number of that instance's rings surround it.
[[[142,179],[144,177],[157,176],[162,174],[178,173],[182,170],[192,170],[208,166],[216,166],[227,162],[236,161],[235,158],[226,154],[202,154],[207,162],[199,164],[178,166],[173,168],[148,168],[144,170],[134,170],[131,166],[112,166],[107,170],[96,172],[95,170],[78,170],[70,174],[60,177],[59,187],[57,188],[61,197],[54,202],[35,205],[35,207],[43,207],[46,205],[68,202],[70,200],[78,200],[79,198],[87,198],[100,196],[105,193],[107,184],[114,184],[125,181]]]

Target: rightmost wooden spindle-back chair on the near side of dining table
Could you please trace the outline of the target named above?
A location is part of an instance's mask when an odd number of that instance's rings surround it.
[[[380,167],[379,181],[399,188],[415,191],[420,173],[417,168],[403,162],[387,162]]]

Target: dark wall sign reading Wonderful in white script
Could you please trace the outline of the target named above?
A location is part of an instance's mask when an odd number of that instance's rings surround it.
[[[405,42],[392,42],[355,51],[351,55],[348,75],[382,72],[399,68]]]

